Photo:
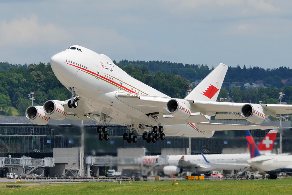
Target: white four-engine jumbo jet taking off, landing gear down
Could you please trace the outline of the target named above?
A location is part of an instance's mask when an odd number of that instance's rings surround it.
[[[66,101],[48,100],[29,106],[26,117],[38,125],[49,118],[95,120],[100,140],[108,140],[107,124],[125,124],[129,143],[135,130],[148,143],[168,136],[212,137],[215,130],[275,129],[272,126],[210,123],[217,112],[236,112],[260,124],[267,115],[291,113],[291,105],[216,102],[228,66],[219,64],[184,99],[171,98],[134,79],[104,54],[74,45],[51,58],[58,80],[72,93]],[[222,115],[221,115],[222,116]],[[234,118],[225,114],[224,118]],[[146,132],[149,132],[148,134]]]

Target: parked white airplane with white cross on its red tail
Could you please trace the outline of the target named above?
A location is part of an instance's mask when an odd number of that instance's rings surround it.
[[[277,132],[270,130],[264,139],[258,144],[261,153],[272,151]],[[249,139],[249,137],[246,137]],[[256,145],[254,141],[252,144]],[[201,155],[172,155],[168,158],[168,166],[163,168],[164,174],[178,174],[183,171],[206,172],[211,170],[234,170],[248,167],[246,162],[250,159],[249,153],[242,154],[205,154]]]

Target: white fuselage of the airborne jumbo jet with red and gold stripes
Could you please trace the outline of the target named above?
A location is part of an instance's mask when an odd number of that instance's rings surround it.
[[[129,76],[107,56],[81,46],[73,47],[81,49],[82,52],[66,49],[53,56],[60,59],[60,64],[51,61],[51,67],[67,89],[75,87],[78,90],[77,94],[86,104],[85,113],[105,113],[113,118],[113,124],[157,125],[152,118],[149,119],[147,113],[126,105],[117,99],[115,94],[124,91],[159,97],[168,97],[167,95]],[[74,108],[71,109],[76,113]],[[188,123],[164,125],[164,133],[168,136],[212,137],[214,131],[201,132],[195,123]]]

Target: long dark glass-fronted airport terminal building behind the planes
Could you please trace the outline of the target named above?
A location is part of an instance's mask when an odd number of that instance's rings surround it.
[[[217,120],[212,122],[250,124],[243,120]],[[291,122],[282,122],[282,126],[291,127]],[[62,149],[66,151],[70,148],[79,148],[78,154],[74,155],[79,156],[80,165],[84,162],[84,159],[81,158],[86,158],[86,156],[117,156],[120,148],[128,148],[129,153],[135,151],[135,148],[137,150],[138,148],[145,148],[145,155],[198,154],[200,152],[226,153],[230,152],[230,149],[234,153],[242,152],[242,149],[246,151],[244,130],[215,131],[211,138],[166,137],[164,141],[159,140],[155,144],[152,142],[148,144],[141,136],[138,136],[138,142],[134,144],[123,139],[123,134],[128,131],[124,125],[107,125],[110,135],[108,141],[98,139],[97,127],[98,125],[93,120],[65,119],[57,121],[51,119],[47,125],[40,126],[30,122],[26,117],[1,116],[0,158],[20,158],[23,156],[35,159],[55,158],[54,149],[56,155],[56,151],[62,153]],[[251,135],[257,142],[263,139],[268,131],[251,130]],[[283,136],[282,145],[283,153],[291,151],[289,138]],[[279,152],[279,134],[273,152]],[[82,155],[80,156],[79,153],[82,153]],[[62,161],[61,164],[64,168],[72,163],[63,161],[60,156],[58,159],[57,161]],[[58,164],[58,162],[56,163]],[[7,172],[7,169],[4,171],[0,167],[0,177],[3,177],[5,172]]]

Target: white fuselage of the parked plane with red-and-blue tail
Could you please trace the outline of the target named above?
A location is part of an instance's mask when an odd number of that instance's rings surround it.
[[[292,155],[268,155],[251,158],[247,163],[268,173],[291,171]]]

